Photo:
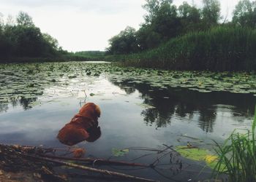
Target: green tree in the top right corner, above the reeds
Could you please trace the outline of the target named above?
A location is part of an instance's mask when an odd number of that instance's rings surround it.
[[[233,23],[236,25],[256,27],[256,1],[242,0],[233,12]]]

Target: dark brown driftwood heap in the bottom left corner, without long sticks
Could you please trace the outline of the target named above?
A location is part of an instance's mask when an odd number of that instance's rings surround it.
[[[7,175],[11,174],[13,178],[26,175],[27,181],[67,181],[64,175],[53,173],[53,165],[50,162],[35,162],[31,159],[26,159],[23,154],[31,154],[31,147],[20,148],[18,145],[7,146],[0,144],[0,181],[6,181]],[[5,178],[5,179],[4,179]],[[12,180],[10,180],[12,181]]]

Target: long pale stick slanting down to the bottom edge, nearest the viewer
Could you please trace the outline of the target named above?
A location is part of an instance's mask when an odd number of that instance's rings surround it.
[[[83,165],[75,165],[75,164],[72,164],[72,163],[69,163],[69,162],[63,162],[63,161],[59,161],[59,160],[55,160],[55,159],[49,159],[49,158],[46,158],[46,157],[36,157],[36,156],[33,156],[33,155],[28,155],[28,154],[23,154],[23,155],[26,156],[26,157],[32,157],[34,159],[39,159],[39,160],[42,160],[42,161],[48,161],[48,162],[53,162],[53,163],[56,163],[56,164],[59,164],[59,165],[66,165],[66,166],[69,166],[69,167],[78,168],[80,170],[87,170],[87,171],[91,171],[91,172],[94,172],[94,173],[100,173],[100,174],[104,174],[104,175],[113,175],[113,176],[120,177],[120,178],[127,178],[127,179],[133,180],[133,181],[156,182],[155,180],[151,180],[151,179],[140,178],[140,177],[136,177],[136,176],[133,176],[133,175],[127,175],[127,174],[124,174],[124,173],[117,173],[117,172],[113,172],[113,171],[109,171],[109,170],[98,170],[98,169],[95,169],[95,168],[92,168],[92,167],[86,167],[86,166],[83,166]]]

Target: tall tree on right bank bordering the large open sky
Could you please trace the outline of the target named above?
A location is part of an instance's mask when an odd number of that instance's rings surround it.
[[[171,0],[147,0],[145,23],[137,32],[140,50],[157,47],[164,41],[179,34],[181,21],[177,16],[177,8]]]

